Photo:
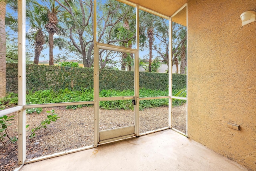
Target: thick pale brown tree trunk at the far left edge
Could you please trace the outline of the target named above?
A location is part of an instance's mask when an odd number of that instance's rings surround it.
[[[0,3],[0,98],[6,95],[6,1]]]

